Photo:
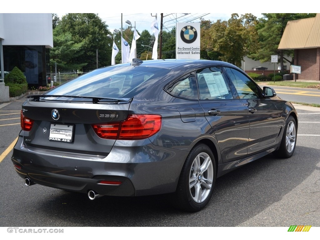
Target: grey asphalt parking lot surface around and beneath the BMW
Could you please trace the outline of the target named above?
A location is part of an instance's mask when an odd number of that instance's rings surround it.
[[[170,196],[89,201],[60,189],[25,187],[11,162],[24,100],[0,105],[0,227],[320,227],[320,108],[295,106],[298,138],[291,158],[268,155],[222,176],[208,206],[186,213],[170,206]]]

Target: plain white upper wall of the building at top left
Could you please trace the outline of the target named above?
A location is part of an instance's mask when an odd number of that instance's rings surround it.
[[[0,13],[2,45],[53,48],[52,13]]]

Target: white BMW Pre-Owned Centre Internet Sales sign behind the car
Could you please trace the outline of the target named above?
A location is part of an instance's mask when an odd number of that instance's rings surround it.
[[[176,58],[200,59],[200,22],[178,22],[176,29]]]

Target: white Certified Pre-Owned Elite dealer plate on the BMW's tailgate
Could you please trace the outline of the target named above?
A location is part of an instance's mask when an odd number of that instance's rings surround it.
[[[72,142],[73,125],[51,124],[49,140],[60,142]]]

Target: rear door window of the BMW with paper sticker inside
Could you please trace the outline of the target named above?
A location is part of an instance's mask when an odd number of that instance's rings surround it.
[[[201,100],[233,99],[230,86],[221,68],[205,68],[197,71]]]

